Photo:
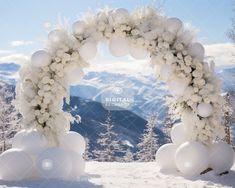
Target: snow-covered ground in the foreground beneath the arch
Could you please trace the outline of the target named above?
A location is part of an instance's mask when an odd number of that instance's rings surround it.
[[[223,176],[212,172],[199,178],[184,178],[180,173],[160,172],[156,163],[88,162],[80,181],[37,180],[5,182],[0,188],[211,188],[235,187],[235,166]]]

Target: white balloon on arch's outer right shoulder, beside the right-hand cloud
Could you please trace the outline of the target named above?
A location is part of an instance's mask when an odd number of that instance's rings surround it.
[[[205,49],[200,43],[192,43],[189,45],[188,53],[199,60],[204,59]]]

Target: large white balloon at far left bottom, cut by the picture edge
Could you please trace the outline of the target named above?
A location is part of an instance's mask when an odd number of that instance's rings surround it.
[[[27,179],[33,171],[33,161],[20,149],[9,149],[0,155],[0,179],[19,181]]]

